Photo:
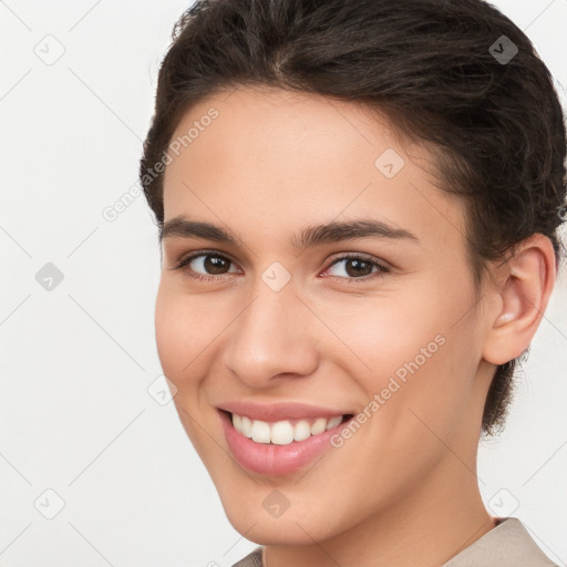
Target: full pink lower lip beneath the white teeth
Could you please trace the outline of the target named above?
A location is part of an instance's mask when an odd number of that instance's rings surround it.
[[[339,423],[319,435],[311,435],[303,441],[293,441],[289,445],[256,443],[235,430],[230,415],[219,411],[220,421],[228,446],[246,470],[267,476],[281,476],[295,473],[315,461],[330,446],[330,439],[348,425],[349,421]]]

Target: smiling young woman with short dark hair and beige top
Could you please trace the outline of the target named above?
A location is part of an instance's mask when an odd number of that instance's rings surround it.
[[[210,0],[141,182],[156,339],[239,566],[550,566],[476,478],[559,268],[563,113],[480,0]]]

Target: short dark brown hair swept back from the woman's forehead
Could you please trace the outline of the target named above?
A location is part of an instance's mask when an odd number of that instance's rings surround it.
[[[238,85],[274,86],[383,113],[435,157],[440,188],[466,200],[475,287],[491,260],[564,220],[566,133],[529,39],[482,0],[203,0],[175,24],[158,75],[140,179],[159,226],[163,161],[185,113]],[[516,52],[517,50],[517,52]],[[527,350],[523,354],[527,353]],[[518,359],[497,368],[483,433],[501,430]]]

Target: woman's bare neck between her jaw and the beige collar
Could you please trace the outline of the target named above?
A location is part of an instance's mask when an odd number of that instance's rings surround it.
[[[265,547],[266,567],[439,567],[494,527],[476,475],[455,455],[379,513],[323,542]]]

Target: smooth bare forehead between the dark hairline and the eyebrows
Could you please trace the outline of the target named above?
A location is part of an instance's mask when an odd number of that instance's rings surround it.
[[[424,241],[463,237],[462,203],[435,186],[427,151],[402,145],[388,120],[363,106],[239,87],[194,105],[176,141],[165,220],[190,214],[268,239],[370,215],[412,227]]]

